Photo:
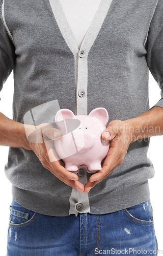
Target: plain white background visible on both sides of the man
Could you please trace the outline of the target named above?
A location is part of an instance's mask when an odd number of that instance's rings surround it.
[[[13,98],[13,72],[4,84],[0,93],[0,112],[12,119],[12,98]],[[150,107],[160,99],[160,89],[150,73],[149,76],[149,100]],[[162,235],[162,159],[163,159],[163,136],[151,138],[148,157],[152,160],[155,168],[155,176],[149,180],[151,192],[151,204],[153,207],[154,227],[158,242],[158,249],[163,250]],[[12,201],[11,183],[5,176],[4,165],[8,159],[8,146],[0,146],[0,195],[1,195],[1,232],[0,250],[1,255],[6,255],[8,224],[9,224],[9,205]],[[16,256],[16,255],[15,255]]]

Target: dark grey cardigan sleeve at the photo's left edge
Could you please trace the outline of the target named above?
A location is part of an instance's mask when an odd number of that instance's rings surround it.
[[[14,44],[0,18],[0,91],[14,67]]]

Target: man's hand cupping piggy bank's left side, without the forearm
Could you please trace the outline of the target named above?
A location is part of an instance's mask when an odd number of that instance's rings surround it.
[[[26,149],[33,150],[42,165],[58,179],[83,192],[84,185],[78,181],[78,176],[62,166],[54,149],[53,141],[62,136],[61,132],[48,123],[38,126],[24,125],[24,128],[27,137]]]

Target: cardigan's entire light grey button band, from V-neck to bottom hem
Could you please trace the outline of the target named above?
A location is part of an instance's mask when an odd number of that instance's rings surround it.
[[[100,5],[95,13],[92,23],[83,39],[80,49],[78,48],[77,41],[72,33],[72,30],[67,22],[66,16],[60,5],[59,0],[49,0],[54,18],[57,21],[59,29],[74,55],[74,70],[75,70],[75,106],[76,115],[87,115],[87,86],[88,86],[88,54],[89,51],[100,33],[101,26],[104,22],[107,12],[110,10],[110,5],[113,0],[101,0]],[[84,55],[84,56],[83,56]],[[79,96],[79,92],[84,91],[83,97]],[[87,172],[84,171],[84,176],[78,176],[78,181],[82,184],[86,184]],[[75,214],[77,216],[79,210],[77,210],[77,204],[82,203],[84,208],[82,212],[90,212],[89,196],[88,194],[81,193],[72,188],[70,196],[70,209],[69,214]]]

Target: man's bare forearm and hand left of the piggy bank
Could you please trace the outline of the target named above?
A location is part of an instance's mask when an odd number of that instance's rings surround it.
[[[53,137],[58,133],[57,137]],[[62,166],[54,148],[54,140],[62,136],[51,124],[27,125],[7,118],[0,113],[0,145],[24,147],[33,150],[42,165],[58,179],[72,188],[84,191],[78,176]]]

